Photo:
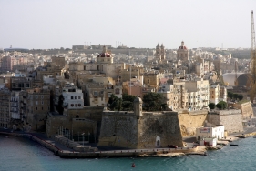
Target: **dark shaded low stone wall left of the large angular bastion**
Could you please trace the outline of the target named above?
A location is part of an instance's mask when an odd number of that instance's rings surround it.
[[[69,109],[66,115],[50,113],[46,121],[46,135],[57,135],[61,126],[62,129],[67,129],[70,135],[89,133],[93,137],[90,140],[96,142],[103,108],[104,106],[84,106],[82,109]]]

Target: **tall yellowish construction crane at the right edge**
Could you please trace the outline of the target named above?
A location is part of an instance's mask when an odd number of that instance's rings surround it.
[[[254,30],[254,19],[253,11],[251,11],[251,90],[250,100],[251,103],[254,101],[256,95],[256,49],[255,49],[255,30]]]

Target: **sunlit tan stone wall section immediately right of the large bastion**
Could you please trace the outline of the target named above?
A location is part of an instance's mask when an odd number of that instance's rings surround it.
[[[194,136],[196,134],[196,128],[204,126],[208,111],[179,111],[179,126],[182,136]]]

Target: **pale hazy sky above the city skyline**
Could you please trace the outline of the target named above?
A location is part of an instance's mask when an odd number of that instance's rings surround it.
[[[248,48],[251,10],[256,0],[0,0],[0,48]]]

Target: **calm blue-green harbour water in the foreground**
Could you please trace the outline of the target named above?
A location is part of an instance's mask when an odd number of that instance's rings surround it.
[[[208,156],[62,159],[26,138],[0,135],[0,170],[256,170],[256,138],[236,143]]]

